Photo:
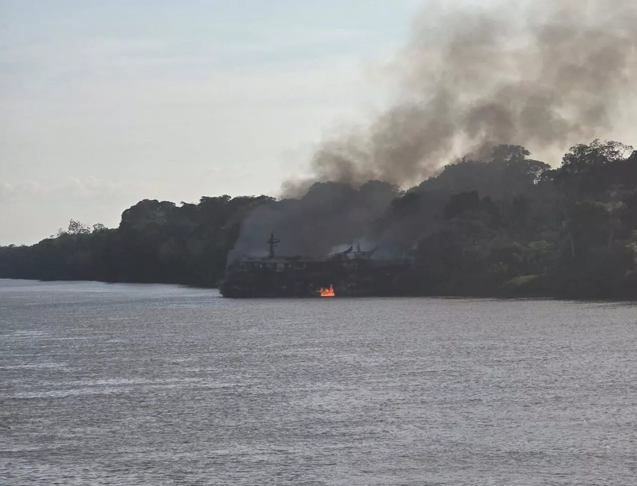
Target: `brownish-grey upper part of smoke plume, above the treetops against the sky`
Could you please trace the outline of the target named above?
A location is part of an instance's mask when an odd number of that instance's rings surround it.
[[[315,181],[405,186],[497,144],[557,153],[615,128],[637,88],[635,0],[440,5],[427,4],[395,63],[395,104],[362,135],[324,142],[314,176],[284,184],[286,193]]]

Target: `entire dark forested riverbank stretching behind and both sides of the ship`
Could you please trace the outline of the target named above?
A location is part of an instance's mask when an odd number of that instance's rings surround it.
[[[530,155],[521,146],[497,146],[407,191],[380,181],[359,188],[317,182],[298,200],[142,200],[122,213],[117,228],[71,220],[37,244],[1,246],[0,278],[214,288],[248,216],[307,209],[312,201],[310,213],[292,213],[328,223],[326,215],[336,214],[335,227],[350,231],[362,228],[355,208],[378,208],[357,236],[408,251],[409,295],[636,299],[637,151],[595,140],[573,146],[556,169]],[[351,236],[334,232],[327,243],[349,244]],[[303,238],[317,235],[294,238],[302,250]]]

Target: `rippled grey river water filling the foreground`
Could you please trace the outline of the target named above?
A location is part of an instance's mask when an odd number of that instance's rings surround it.
[[[3,485],[637,484],[637,307],[0,281]]]

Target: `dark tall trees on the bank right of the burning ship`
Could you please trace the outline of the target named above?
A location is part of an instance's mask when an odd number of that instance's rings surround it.
[[[528,156],[524,148],[499,146],[490,162],[462,160],[420,184],[412,199],[447,189],[447,202],[434,209],[439,216],[428,216],[436,229],[428,225],[415,256],[420,288],[443,295],[637,297],[629,281],[637,277],[633,148],[581,144],[555,170]]]

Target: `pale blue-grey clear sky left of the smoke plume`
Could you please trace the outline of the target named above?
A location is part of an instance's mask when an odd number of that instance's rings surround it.
[[[143,198],[276,194],[382,104],[421,6],[0,0],[0,244]]]

